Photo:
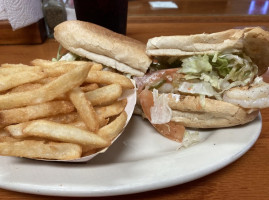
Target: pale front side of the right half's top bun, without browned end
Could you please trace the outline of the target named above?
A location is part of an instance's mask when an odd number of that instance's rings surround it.
[[[244,30],[230,29],[211,34],[154,37],[148,40],[151,56],[185,56],[243,48]]]

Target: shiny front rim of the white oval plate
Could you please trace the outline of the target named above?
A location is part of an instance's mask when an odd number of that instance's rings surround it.
[[[158,183],[152,184],[152,183],[146,183],[140,186],[136,186],[136,188],[113,188],[111,190],[106,190],[104,192],[102,191],[85,191],[82,190],[76,190],[76,191],[66,191],[64,188],[56,188],[52,189],[50,187],[32,187],[33,185],[23,185],[23,184],[14,184],[14,183],[8,183],[3,184],[0,181],[0,188],[6,189],[9,191],[15,191],[15,192],[21,192],[21,193],[29,193],[29,194],[36,194],[36,195],[47,195],[47,196],[66,196],[66,197],[106,197],[106,196],[116,196],[116,195],[127,195],[127,194],[134,194],[134,193],[141,193],[141,192],[147,192],[147,191],[153,191],[163,188],[168,188],[176,185],[181,185],[190,181],[197,180],[199,178],[202,178],[204,176],[207,176],[209,174],[212,174],[216,171],[219,171],[220,169],[228,166],[229,164],[233,163],[237,159],[239,159],[241,156],[243,156],[257,141],[257,139],[260,136],[261,130],[262,130],[262,116],[259,112],[258,117],[255,119],[258,120],[257,128],[258,130],[255,133],[255,137],[248,142],[248,144],[245,146],[244,149],[240,150],[237,154],[233,155],[230,158],[225,159],[225,162],[218,162],[218,164],[213,165],[211,168],[205,168],[200,170],[200,173],[193,174],[191,177],[185,178],[184,180],[180,180],[178,177],[175,177],[174,179],[169,180],[162,180]],[[191,147],[190,147],[191,148]],[[1,158],[1,157],[0,157]],[[154,158],[155,159],[155,158]],[[67,165],[70,165],[70,163]]]

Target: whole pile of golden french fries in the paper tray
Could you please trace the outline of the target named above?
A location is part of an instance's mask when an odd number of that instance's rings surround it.
[[[74,160],[123,130],[127,77],[86,61],[35,59],[0,67],[0,155]]]

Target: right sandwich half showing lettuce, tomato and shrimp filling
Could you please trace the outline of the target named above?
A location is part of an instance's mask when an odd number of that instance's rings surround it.
[[[148,40],[150,72],[135,78],[145,117],[181,142],[185,127],[222,128],[253,121],[269,107],[269,33],[261,28]]]

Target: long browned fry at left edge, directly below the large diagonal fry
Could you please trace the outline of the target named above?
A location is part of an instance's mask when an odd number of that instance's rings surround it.
[[[21,108],[0,110],[0,126],[70,113],[74,110],[74,105],[69,101],[50,101]]]

